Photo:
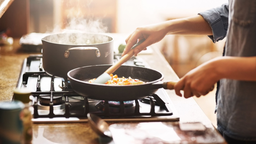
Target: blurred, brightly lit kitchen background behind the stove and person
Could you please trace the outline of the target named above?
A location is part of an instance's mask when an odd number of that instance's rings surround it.
[[[80,30],[125,33],[138,26],[197,15],[228,0],[15,0],[0,19],[0,30],[20,38],[29,33]],[[125,42],[125,39],[123,40]],[[207,36],[167,35],[159,50],[179,78],[191,69],[222,55],[225,39],[213,43]],[[194,98],[216,126],[215,91]]]

